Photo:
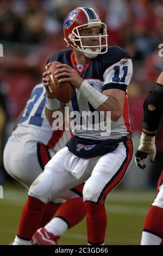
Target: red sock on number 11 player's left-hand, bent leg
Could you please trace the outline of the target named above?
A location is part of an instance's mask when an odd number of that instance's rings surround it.
[[[24,205],[20,224],[18,227],[18,237],[31,240],[33,234],[39,228],[45,203],[35,197],[28,197]]]

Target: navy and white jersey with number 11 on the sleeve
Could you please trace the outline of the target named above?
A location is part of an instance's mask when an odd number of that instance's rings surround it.
[[[55,60],[70,65],[84,80],[87,80],[87,82],[101,93],[106,89],[114,88],[121,89],[125,92],[122,117],[117,121],[110,120],[110,126],[106,127],[106,119],[104,117],[101,118],[101,115],[80,94],[78,89],[74,89],[72,100],[66,104],[69,107],[70,113],[80,113],[79,123],[77,123],[76,117],[72,118],[71,127],[74,135],[90,139],[110,139],[120,138],[131,132],[127,87],[133,74],[133,64],[129,54],[125,50],[117,46],[109,47],[108,52],[91,59],[89,63],[85,64],[82,71],[77,69],[72,50],[61,50],[57,52],[49,58],[47,63]],[[88,113],[88,120],[86,120],[83,113]]]

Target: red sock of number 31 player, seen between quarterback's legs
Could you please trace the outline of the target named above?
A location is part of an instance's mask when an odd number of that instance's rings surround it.
[[[64,220],[68,228],[72,228],[74,225],[83,220],[86,215],[85,205],[83,198],[77,197],[67,200],[59,208],[56,217]]]

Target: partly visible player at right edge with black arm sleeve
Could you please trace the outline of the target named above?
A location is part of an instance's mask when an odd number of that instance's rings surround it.
[[[163,71],[155,86],[143,103],[144,117],[140,146],[135,155],[136,165],[140,169],[146,167],[147,156],[151,162],[156,154],[155,136],[163,113]],[[158,180],[154,201],[145,218],[141,245],[160,245],[163,239],[163,171]]]

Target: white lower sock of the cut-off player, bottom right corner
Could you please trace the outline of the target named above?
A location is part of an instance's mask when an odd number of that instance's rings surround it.
[[[160,245],[162,239],[146,231],[142,232],[141,245]]]

